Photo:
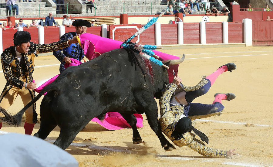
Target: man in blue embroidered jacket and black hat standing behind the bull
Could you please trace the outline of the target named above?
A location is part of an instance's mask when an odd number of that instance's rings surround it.
[[[78,19],[72,23],[72,26],[75,26],[76,32],[65,33],[63,36],[61,36],[60,40],[72,39],[77,34],[86,33],[87,27],[91,27],[91,23],[88,22],[87,20]],[[63,70],[65,70],[64,65],[66,61],[70,61],[71,63],[70,58],[73,58],[79,61],[83,60],[84,58],[83,48],[79,45],[79,43],[72,44],[69,47],[66,47],[62,50],[54,51],[53,55],[61,62],[60,73]]]

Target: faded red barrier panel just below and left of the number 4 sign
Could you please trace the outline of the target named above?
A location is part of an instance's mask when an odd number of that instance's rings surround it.
[[[184,44],[200,43],[199,23],[184,23]]]

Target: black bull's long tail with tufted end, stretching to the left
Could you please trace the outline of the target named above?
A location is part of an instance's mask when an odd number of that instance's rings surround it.
[[[55,83],[55,82],[53,82],[53,83]],[[48,92],[50,90],[55,90],[55,89],[52,89],[55,86],[55,84],[53,84],[53,83],[46,86],[36,97],[34,97],[32,99],[32,101],[30,101],[21,111],[19,111],[15,115],[11,115],[9,111],[0,107],[0,112],[2,112],[5,115],[5,117],[0,117],[0,121],[6,122],[9,125],[19,126],[21,124],[22,116],[23,116],[25,110],[28,109],[30,106],[32,106],[32,104],[34,104],[36,101],[38,101],[39,98],[42,97],[42,95],[45,92]]]

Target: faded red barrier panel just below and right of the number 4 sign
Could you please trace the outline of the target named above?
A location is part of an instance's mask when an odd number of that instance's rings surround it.
[[[223,43],[223,30],[221,22],[206,23],[206,43]]]

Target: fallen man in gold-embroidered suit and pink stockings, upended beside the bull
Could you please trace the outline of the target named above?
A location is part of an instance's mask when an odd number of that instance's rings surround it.
[[[160,98],[160,119],[159,124],[162,132],[179,147],[188,146],[199,154],[206,157],[232,158],[234,150],[222,151],[208,148],[205,144],[195,138],[197,134],[208,144],[207,136],[191,125],[191,119],[206,118],[213,115],[220,115],[224,110],[221,100],[232,100],[235,95],[215,94],[213,104],[191,103],[196,97],[204,95],[210,89],[216,78],[225,71],[235,70],[234,63],[228,63],[219,67],[208,77],[202,77],[199,84],[194,87],[187,87],[180,82],[180,77],[174,77],[174,82],[167,86],[163,96]],[[177,86],[179,87],[177,88]],[[193,133],[193,132],[194,133]]]

